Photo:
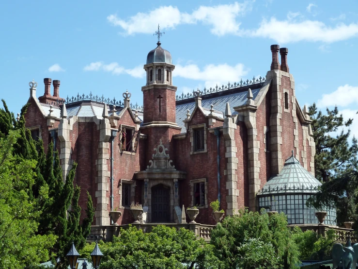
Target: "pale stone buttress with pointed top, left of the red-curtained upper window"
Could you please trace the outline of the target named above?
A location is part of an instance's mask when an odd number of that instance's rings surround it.
[[[109,225],[109,212],[108,203],[109,198],[107,192],[109,190],[109,177],[110,171],[108,170],[107,160],[109,160],[109,138],[110,138],[110,123],[108,119],[107,105],[104,105],[103,119],[97,126],[99,130],[99,142],[97,149],[97,177],[96,184],[97,190],[95,197],[97,204],[95,205],[96,211],[94,217],[96,218],[96,225]]]

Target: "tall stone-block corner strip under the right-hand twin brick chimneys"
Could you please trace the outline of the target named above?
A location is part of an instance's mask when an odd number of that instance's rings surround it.
[[[282,167],[282,106],[280,92],[281,72],[280,70],[271,70],[266,74],[266,80],[271,82],[271,115],[270,115],[270,151],[271,151],[271,173],[279,174]]]

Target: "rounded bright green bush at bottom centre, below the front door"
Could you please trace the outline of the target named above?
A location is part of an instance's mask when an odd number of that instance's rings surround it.
[[[181,228],[158,225],[150,233],[136,227],[121,228],[120,236],[112,243],[100,243],[104,254],[102,269],[217,269],[221,262],[214,255],[214,246],[203,239],[197,240],[193,232]],[[81,254],[90,259],[94,243]],[[195,267],[196,266],[196,267]]]

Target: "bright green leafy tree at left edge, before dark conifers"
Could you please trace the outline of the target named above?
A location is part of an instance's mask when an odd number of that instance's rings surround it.
[[[13,155],[19,133],[9,130],[0,139],[0,268],[9,269],[47,260],[57,238],[36,235],[41,210],[28,193],[28,186],[34,183],[36,161]],[[39,193],[47,197],[45,187]]]

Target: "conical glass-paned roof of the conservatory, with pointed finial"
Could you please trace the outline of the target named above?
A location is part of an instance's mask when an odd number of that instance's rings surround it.
[[[271,177],[259,194],[278,192],[315,193],[320,185],[322,184],[301,166],[292,151],[292,156],[285,161],[280,174]]]

